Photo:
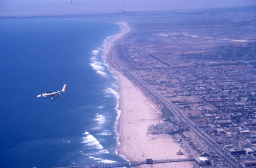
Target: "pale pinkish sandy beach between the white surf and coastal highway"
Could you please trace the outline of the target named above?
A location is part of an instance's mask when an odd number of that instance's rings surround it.
[[[127,23],[118,23],[125,28],[120,34],[111,39],[106,47],[103,58],[108,60],[112,53],[111,47],[115,41],[131,31]],[[119,134],[120,147],[118,154],[131,161],[151,158],[153,160],[187,158],[186,153],[170,135],[148,135],[147,128],[160,121],[160,110],[150,101],[142,91],[127,79],[120,69],[114,69],[119,81],[120,110]],[[181,150],[184,155],[177,155]],[[140,165],[139,167],[193,167],[194,162],[161,163],[154,165]]]

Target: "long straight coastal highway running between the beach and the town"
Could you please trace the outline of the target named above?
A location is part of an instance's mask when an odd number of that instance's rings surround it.
[[[168,107],[172,112],[180,119],[181,122],[183,122],[192,133],[194,133],[205,145],[208,146],[212,151],[214,151],[220,158],[224,159],[231,167],[237,167],[238,162],[234,159],[231,159],[231,156],[228,154],[224,154],[221,152],[221,149],[216,143],[210,139],[208,136],[204,135],[196,126],[189,121],[189,119],[176,107],[173,105],[173,103],[168,102],[162,95],[160,95],[155,89],[153,89],[150,85],[148,85],[144,80],[142,80],[137,74],[135,74],[123,61],[119,59],[119,55],[117,52],[117,45],[114,45],[112,47],[112,60],[117,63],[119,66],[121,66],[123,69],[125,69],[126,73],[129,74],[129,76],[135,80],[141,87],[143,87],[149,94],[152,95],[152,97],[156,98],[159,102],[161,102],[163,105]]]

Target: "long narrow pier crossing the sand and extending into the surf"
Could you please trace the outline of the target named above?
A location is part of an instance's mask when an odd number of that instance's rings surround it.
[[[157,164],[157,163],[171,163],[171,162],[183,162],[183,161],[195,161],[195,159],[167,159],[167,160],[152,160],[146,159],[145,161],[132,161],[132,162],[121,162],[121,163],[94,163],[90,165],[75,165],[58,168],[108,168],[108,167],[131,167],[141,164]],[[57,168],[57,167],[55,167]]]

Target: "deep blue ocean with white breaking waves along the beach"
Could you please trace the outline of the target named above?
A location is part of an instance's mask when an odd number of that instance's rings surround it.
[[[117,25],[0,20],[0,167],[123,161],[118,82],[101,59]],[[60,98],[36,98],[67,84]]]

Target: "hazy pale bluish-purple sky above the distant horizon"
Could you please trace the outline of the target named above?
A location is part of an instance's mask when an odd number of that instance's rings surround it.
[[[256,0],[0,0],[0,16],[256,6]]]

